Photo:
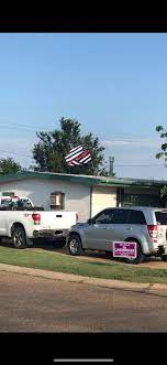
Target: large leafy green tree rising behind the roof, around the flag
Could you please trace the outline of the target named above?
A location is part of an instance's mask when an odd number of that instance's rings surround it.
[[[92,133],[81,136],[80,124],[76,119],[59,120],[60,129],[54,131],[36,132],[40,141],[34,144],[33,158],[36,162],[34,170],[76,173],[76,174],[108,174],[104,167],[104,148],[100,146],[98,137]],[[68,167],[65,161],[65,155],[70,149],[82,144],[91,154],[91,162],[81,167]]]

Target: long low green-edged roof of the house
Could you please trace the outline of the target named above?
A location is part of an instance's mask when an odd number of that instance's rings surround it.
[[[93,176],[93,175],[78,175],[54,172],[33,172],[24,171],[15,174],[0,175],[0,184],[10,181],[24,179],[41,179],[41,180],[64,180],[74,183],[86,185],[102,185],[102,186],[140,186],[140,187],[162,187],[167,185],[166,180],[145,180],[131,178],[109,178],[109,176]]]

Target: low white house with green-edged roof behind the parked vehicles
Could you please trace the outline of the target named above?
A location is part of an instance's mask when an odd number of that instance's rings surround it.
[[[45,210],[76,211],[82,222],[108,206],[160,206],[167,181],[48,172],[0,175],[0,195],[26,196]]]

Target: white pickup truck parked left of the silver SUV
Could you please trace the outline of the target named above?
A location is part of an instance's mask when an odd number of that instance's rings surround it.
[[[35,207],[30,198],[0,198],[0,239],[10,237],[15,248],[32,246],[35,238],[66,237],[77,222],[76,212],[49,211]]]

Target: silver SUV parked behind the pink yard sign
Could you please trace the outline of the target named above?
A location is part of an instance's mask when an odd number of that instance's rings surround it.
[[[66,246],[73,256],[86,249],[111,253],[112,241],[135,241],[138,264],[145,256],[159,256],[167,261],[167,210],[156,207],[108,207],[87,223],[71,226]]]

